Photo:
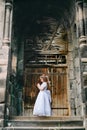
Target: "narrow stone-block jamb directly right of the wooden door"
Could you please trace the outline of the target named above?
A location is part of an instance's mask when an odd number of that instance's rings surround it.
[[[71,115],[75,115],[75,95],[74,95],[74,59],[73,59],[73,43],[72,43],[72,34],[71,30],[68,32],[68,90],[69,90],[69,102],[70,102],[70,109]]]

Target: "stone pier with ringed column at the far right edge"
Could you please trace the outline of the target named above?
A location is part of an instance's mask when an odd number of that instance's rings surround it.
[[[77,67],[77,60],[75,63],[76,70],[80,70],[80,77],[81,81],[77,78],[78,83],[78,102],[79,96],[82,97],[82,113],[86,116],[86,77],[87,77],[87,3],[83,3],[81,0],[77,0],[76,2],[76,40],[78,45],[78,56],[79,56],[79,66]],[[77,71],[76,71],[77,72]],[[78,77],[76,73],[76,77]],[[79,88],[79,86],[81,86]],[[78,111],[80,113],[80,111]],[[83,115],[82,114],[82,115]]]

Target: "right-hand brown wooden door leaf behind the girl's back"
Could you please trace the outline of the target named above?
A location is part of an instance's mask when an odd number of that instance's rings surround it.
[[[66,68],[51,69],[53,115],[68,115]]]

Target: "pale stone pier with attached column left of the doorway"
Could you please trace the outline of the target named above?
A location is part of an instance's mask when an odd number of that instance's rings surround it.
[[[12,20],[12,1],[0,0],[0,7],[3,12],[0,12],[0,16],[3,16],[3,22],[0,26],[0,37],[2,37],[2,43],[0,47],[0,120],[4,119],[4,106],[7,100],[7,78],[10,72],[10,43],[11,43],[11,20]],[[3,30],[1,28],[3,27]],[[7,110],[6,110],[7,111]],[[3,123],[0,124],[3,126]]]

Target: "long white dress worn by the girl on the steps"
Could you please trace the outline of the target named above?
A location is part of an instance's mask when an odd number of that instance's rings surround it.
[[[50,91],[47,90],[47,83],[43,82],[41,87],[44,90],[40,90],[38,93],[34,109],[33,115],[35,116],[51,116],[51,95]]]

